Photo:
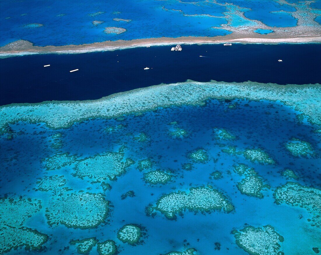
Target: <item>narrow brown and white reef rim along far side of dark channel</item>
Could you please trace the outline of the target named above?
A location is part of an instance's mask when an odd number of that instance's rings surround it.
[[[277,38],[275,35],[254,35],[255,37],[239,37],[233,35],[216,37],[178,37],[178,38],[149,38],[133,40],[104,41],[81,45],[66,46],[34,46],[26,40],[18,40],[0,47],[0,58],[7,58],[21,55],[34,54],[80,54],[89,52],[114,51],[119,49],[146,47],[146,46],[169,46],[174,44],[223,44],[223,43],[241,43],[241,44],[280,44],[280,43],[321,43],[321,35],[298,36],[288,38]],[[263,38],[263,36],[265,38]]]

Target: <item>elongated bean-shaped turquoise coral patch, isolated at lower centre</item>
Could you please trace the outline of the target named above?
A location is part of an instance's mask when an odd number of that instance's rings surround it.
[[[220,191],[211,186],[192,187],[188,191],[178,191],[165,194],[156,201],[156,205],[149,205],[146,214],[153,216],[159,211],[166,218],[175,220],[176,214],[182,215],[184,211],[211,212],[221,211],[230,213],[234,206]]]

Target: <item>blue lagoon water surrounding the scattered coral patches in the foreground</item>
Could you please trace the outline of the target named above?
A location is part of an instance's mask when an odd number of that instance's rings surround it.
[[[272,196],[275,187],[287,182],[280,174],[284,168],[291,168],[299,176],[296,182],[321,188],[320,134],[314,132],[316,126],[300,124],[296,118],[298,114],[299,112],[275,102],[210,100],[205,106],[161,108],[141,116],[127,116],[123,120],[96,119],[56,131],[49,130],[42,124],[20,122],[11,125],[12,140],[5,140],[4,136],[0,138],[0,162],[3,162],[1,196],[22,195],[42,200],[42,210],[30,217],[24,226],[50,236],[44,244],[45,251],[41,252],[46,254],[75,254],[75,247],[68,242],[71,239],[89,237],[97,237],[100,242],[114,240],[120,254],[163,254],[184,247],[193,247],[198,254],[214,254],[215,242],[221,244],[221,250],[215,251],[215,254],[246,254],[235,244],[235,238],[231,234],[233,229],[240,229],[245,223],[253,226],[272,225],[284,237],[281,250],[285,254],[313,254],[312,247],[319,245],[316,236],[320,234],[320,230],[309,225],[306,210],[276,205]],[[172,128],[169,123],[174,121],[188,132],[186,138],[175,139],[169,135]],[[116,127],[119,124],[123,125],[123,128],[110,133],[105,131],[106,127]],[[213,140],[213,127],[225,128],[239,139]],[[62,147],[54,149],[51,147],[52,135],[57,132],[62,134]],[[148,137],[146,141],[133,139],[142,132]],[[285,150],[284,143],[292,137],[311,143],[318,157],[291,156]],[[110,191],[103,192],[100,183],[91,184],[87,177],[82,180],[72,176],[73,166],[46,171],[41,162],[41,159],[53,156],[57,151],[69,152],[82,159],[106,151],[117,151],[124,144],[127,147],[125,157],[133,159],[135,164],[128,168],[126,174],[118,177],[117,181],[108,182],[112,186]],[[223,144],[222,147],[220,144]],[[238,149],[262,148],[277,164],[260,165],[244,157],[221,152],[221,149],[228,145],[236,145]],[[182,164],[191,162],[187,153],[200,147],[207,150],[210,160],[205,164],[193,163],[194,169],[191,171],[182,169]],[[140,172],[136,167],[138,160],[147,157],[154,161],[152,169],[171,169],[176,176],[174,181],[162,186],[144,183],[142,178],[146,171]],[[245,163],[255,168],[265,182],[271,185],[270,190],[263,191],[263,199],[239,192],[236,183],[241,178],[232,170],[235,163]],[[94,170],[88,168],[88,172]],[[211,180],[209,176],[214,170],[220,171],[223,178]],[[37,178],[55,174],[64,175],[66,186],[74,191],[103,192],[113,206],[107,218],[110,222],[89,230],[69,229],[61,224],[49,227],[45,208],[50,192],[36,191],[35,188],[38,188]],[[155,217],[145,215],[145,207],[154,203],[163,193],[184,191],[190,186],[206,184],[213,185],[229,197],[235,206],[235,212],[184,212],[184,216],[178,216],[176,221],[168,220],[160,213]],[[130,190],[134,191],[135,197],[121,200],[121,195]],[[117,239],[117,230],[125,224],[140,224],[146,227],[147,235],[143,244],[132,247]],[[25,253],[23,249],[11,252]],[[97,254],[96,248],[90,254]]]

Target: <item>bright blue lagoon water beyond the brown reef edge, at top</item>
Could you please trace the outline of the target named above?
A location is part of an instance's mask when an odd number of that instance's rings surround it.
[[[291,15],[296,11],[293,3],[299,2],[91,0],[66,4],[64,0],[1,1],[0,9],[5,11],[0,12],[0,46],[20,39],[38,46],[61,46],[118,39],[212,37],[230,33],[220,28],[222,24],[247,27],[255,23],[253,20],[272,27],[294,27],[297,19]],[[320,0],[313,2],[311,8],[299,4],[299,15],[320,11]],[[316,21],[320,22],[320,16]],[[317,24],[312,20],[305,25]],[[125,30],[106,33],[108,27]]]

